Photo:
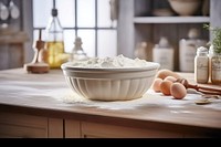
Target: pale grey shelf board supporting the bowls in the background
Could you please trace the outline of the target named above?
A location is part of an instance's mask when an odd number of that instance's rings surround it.
[[[209,17],[135,17],[134,23],[209,23]]]

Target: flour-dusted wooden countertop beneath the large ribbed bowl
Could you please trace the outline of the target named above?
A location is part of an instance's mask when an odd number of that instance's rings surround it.
[[[182,75],[189,81],[193,74]],[[73,95],[72,95],[73,94]],[[23,69],[0,71],[0,111],[40,116],[73,118],[133,127],[151,127],[194,132],[207,129],[221,135],[221,99],[196,105],[199,94],[188,93],[172,99],[151,90],[144,97],[128,102],[92,102],[76,99],[61,70],[29,74]],[[66,98],[67,97],[67,98]],[[70,102],[70,99],[69,99]]]

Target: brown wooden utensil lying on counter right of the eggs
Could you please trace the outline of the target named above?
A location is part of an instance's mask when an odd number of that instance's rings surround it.
[[[207,87],[201,86],[198,84],[190,84],[186,78],[178,78],[177,82],[185,85],[186,88],[194,88],[198,92],[201,92],[203,94],[213,94],[213,95],[221,95],[221,88],[214,88],[214,87]]]

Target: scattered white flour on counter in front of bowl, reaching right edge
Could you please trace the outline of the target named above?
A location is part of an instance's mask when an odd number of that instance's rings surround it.
[[[156,98],[156,95],[158,96]],[[97,107],[102,109],[137,109],[138,107],[170,107],[177,113],[193,113],[186,109],[186,105],[192,105],[196,107],[208,107],[217,111],[221,111],[221,99],[215,99],[209,105],[196,105],[194,101],[199,99],[199,94],[188,94],[185,99],[173,99],[172,96],[162,96],[160,93],[156,94],[149,90],[143,97],[131,101],[114,101],[102,102],[91,101],[78,96],[74,92],[65,93],[62,101],[66,105],[82,105],[88,107]]]

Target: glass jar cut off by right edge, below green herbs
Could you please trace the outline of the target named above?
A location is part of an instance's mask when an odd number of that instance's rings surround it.
[[[210,78],[212,84],[221,84],[221,54],[210,46]]]

